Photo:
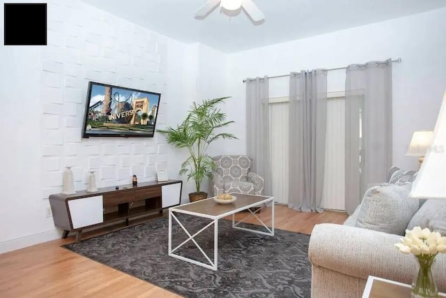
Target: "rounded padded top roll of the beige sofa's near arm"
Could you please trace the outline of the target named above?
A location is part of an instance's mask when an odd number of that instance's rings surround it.
[[[323,223],[316,225],[309,240],[308,255],[313,266],[347,276],[368,276],[412,283],[417,273],[413,255],[400,253],[394,244],[401,236],[374,230]],[[438,290],[446,291],[446,254],[439,253],[432,267]]]

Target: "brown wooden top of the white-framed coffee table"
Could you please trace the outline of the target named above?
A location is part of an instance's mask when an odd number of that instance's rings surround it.
[[[219,204],[214,201],[214,198],[200,200],[189,204],[183,204],[176,207],[171,207],[172,211],[185,211],[187,214],[196,214],[197,216],[220,218],[238,211],[243,211],[249,207],[254,207],[261,202],[268,202],[273,200],[272,197],[263,195],[244,195],[241,193],[230,193],[236,196],[237,200],[231,204]]]

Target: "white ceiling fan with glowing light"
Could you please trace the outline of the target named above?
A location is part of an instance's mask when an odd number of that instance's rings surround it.
[[[265,15],[263,15],[261,10],[252,0],[208,0],[208,2],[197,10],[195,18],[203,19],[207,17],[219,3],[220,7],[226,10],[238,10],[243,8],[254,22],[260,22],[265,18]]]

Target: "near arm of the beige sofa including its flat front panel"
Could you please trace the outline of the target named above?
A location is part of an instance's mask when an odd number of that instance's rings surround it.
[[[399,235],[349,225],[316,225],[308,252],[312,298],[361,297],[369,276],[412,283],[417,262],[413,255],[394,248],[400,239]],[[446,292],[446,254],[436,256],[432,271],[438,290]]]

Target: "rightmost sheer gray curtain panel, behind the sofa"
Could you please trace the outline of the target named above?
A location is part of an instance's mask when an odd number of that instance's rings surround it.
[[[392,59],[346,70],[346,211],[392,166]]]

